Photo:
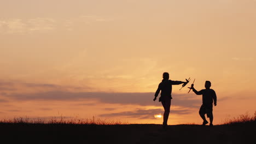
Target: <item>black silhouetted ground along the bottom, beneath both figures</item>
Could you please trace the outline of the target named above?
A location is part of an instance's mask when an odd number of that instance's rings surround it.
[[[0,123],[1,143],[256,143],[256,124],[75,125]]]

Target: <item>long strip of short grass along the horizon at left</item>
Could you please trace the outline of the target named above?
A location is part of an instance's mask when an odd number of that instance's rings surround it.
[[[85,119],[66,119],[65,117],[53,117],[51,119],[41,119],[41,118],[28,118],[28,117],[18,117],[13,119],[1,119],[0,123],[19,123],[19,124],[87,124],[87,125],[118,125],[118,124],[128,124],[127,122],[121,122],[119,120],[107,120],[100,118],[85,118]]]

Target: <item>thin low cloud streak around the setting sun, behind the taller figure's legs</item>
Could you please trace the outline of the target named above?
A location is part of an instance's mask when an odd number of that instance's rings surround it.
[[[163,113],[162,109],[137,109],[136,111],[124,111],[117,113],[106,113],[99,115],[100,117],[128,117],[128,118],[139,118],[139,119],[155,119],[154,115]],[[175,113],[179,115],[185,115],[190,113],[190,110],[171,110],[170,113]]]

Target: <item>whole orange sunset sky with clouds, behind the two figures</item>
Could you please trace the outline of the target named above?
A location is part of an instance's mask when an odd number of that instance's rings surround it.
[[[0,50],[0,119],[161,124],[165,71],[212,82],[214,124],[256,110],[255,0],[1,0]],[[180,88],[168,124],[201,124]]]

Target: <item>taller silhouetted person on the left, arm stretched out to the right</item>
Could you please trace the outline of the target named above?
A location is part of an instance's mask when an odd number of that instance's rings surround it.
[[[155,98],[154,101],[156,100],[156,97],[158,97],[159,92],[161,91],[161,96],[159,98],[159,101],[161,101],[162,106],[164,107],[164,122],[162,123],[162,126],[165,128],[167,126],[167,121],[170,113],[170,107],[171,107],[171,99],[172,99],[172,85],[180,85],[182,83],[187,84],[187,82],[183,81],[172,81],[169,80],[169,74],[165,72],[162,74],[162,82],[159,83],[158,89],[155,92]]]

